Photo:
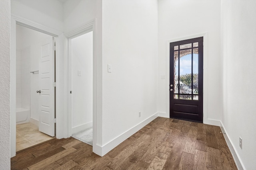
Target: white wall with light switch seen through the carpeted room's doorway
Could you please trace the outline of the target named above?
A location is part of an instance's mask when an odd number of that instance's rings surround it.
[[[72,129],[75,130],[92,127],[92,31],[71,41]]]

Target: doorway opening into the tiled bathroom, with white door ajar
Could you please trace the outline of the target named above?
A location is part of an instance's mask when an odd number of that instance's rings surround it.
[[[16,152],[55,137],[55,37],[16,24]]]

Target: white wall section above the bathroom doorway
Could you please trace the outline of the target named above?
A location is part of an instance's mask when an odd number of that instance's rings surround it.
[[[58,0],[11,0],[11,13],[63,31],[63,4]]]

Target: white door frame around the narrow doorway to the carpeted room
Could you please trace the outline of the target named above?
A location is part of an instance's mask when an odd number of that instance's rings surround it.
[[[90,31],[93,31],[93,111],[92,114],[96,115],[96,101],[97,94],[96,94],[96,41],[95,41],[95,20],[91,20],[84,25],[73,29],[72,31],[65,33],[65,53],[68,54],[68,91],[70,92],[72,90],[72,53],[71,53],[71,39],[78,37],[80,35],[86,34]],[[96,134],[97,134],[97,128],[96,128],[96,119],[93,116],[92,122],[93,122],[93,147],[96,146]],[[72,135],[72,94],[69,94],[68,96],[68,136]]]

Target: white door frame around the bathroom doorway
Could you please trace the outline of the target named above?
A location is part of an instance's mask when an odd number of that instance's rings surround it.
[[[11,14],[11,46],[10,46],[10,148],[11,157],[16,155],[16,24],[34,29],[56,37],[56,138],[65,137],[65,114],[64,111],[64,35],[50,27],[28,20],[26,18]]]

